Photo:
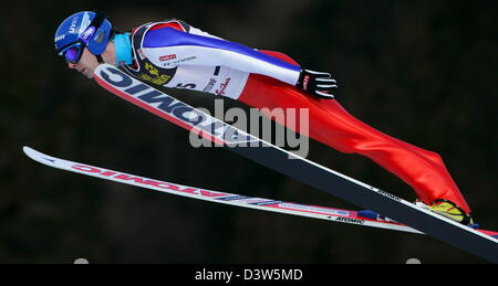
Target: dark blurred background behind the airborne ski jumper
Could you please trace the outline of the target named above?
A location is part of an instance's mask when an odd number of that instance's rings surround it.
[[[66,68],[53,34],[98,8],[128,30],[178,18],[333,72],[338,99],[380,130],[437,151],[477,222],[498,230],[496,1],[14,1],[0,24],[0,262],[483,263],[434,239],[264,213],[68,173],[42,152],[159,180],[356,209],[188,133]],[[199,95],[189,103],[209,105]],[[210,100],[210,99],[209,99]],[[407,200],[413,191],[321,144],[310,159]]]

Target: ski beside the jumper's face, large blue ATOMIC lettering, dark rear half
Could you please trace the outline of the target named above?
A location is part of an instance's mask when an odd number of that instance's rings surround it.
[[[490,235],[271,145],[153,88],[112,65],[102,64],[95,68],[94,78],[111,93],[206,139],[224,145],[236,153],[363,209],[382,213],[489,262],[498,263],[498,240]],[[250,147],[248,142],[251,142]]]

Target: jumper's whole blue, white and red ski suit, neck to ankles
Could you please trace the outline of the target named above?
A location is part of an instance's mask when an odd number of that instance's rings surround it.
[[[282,53],[229,42],[179,20],[134,29],[131,45],[133,64],[122,67],[137,78],[222,95],[256,108],[295,108],[297,118],[300,108],[308,108],[312,139],[341,152],[372,159],[411,186],[426,204],[446,199],[470,213],[439,155],[372,128],[336,100],[300,91],[295,84],[302,68]],[[299,126],[294,131],[300,131]]]

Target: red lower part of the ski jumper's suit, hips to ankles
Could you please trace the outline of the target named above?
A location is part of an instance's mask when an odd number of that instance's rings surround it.
[[[260,52],[298,64],[282,53]],[[426,204],[436,199],[446,199],[470,213],[470,208],[438,153],[372,128],[349,114],[334,99],[318,99],[289,84],[257,74],[249,76],[238,99],[257,108],[309,108],[309,136],[312,139],[341,152],[369,157],[409,184]]]

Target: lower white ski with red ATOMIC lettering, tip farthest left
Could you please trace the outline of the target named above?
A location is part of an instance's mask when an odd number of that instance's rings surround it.
[[[325,221],[349,223],[362,226],[372,226],[393,231],[423,234],[407,225],[384,218],[372,211],[351,211],[343,209],[325,208],[319,205],[302,204],[295,202],[284,202],[280,200],[255,198],[237,193],[212,191],[196,187],[183,186],[174,182],[166,182],[156,179],[145,178],[137,174],[125,173],[122,171],[110,170],[89,163],[74,162],[61,158],[55,158],[30,147],[23,147],[24,153],[31,159],[45,166],[85,174],[103,180],[129,184],[134,187],[155,190],[164,193],[186,197],[196,200],[209,201],[215,203],[229,204],[240,208],[255,209],[259,211],[277,212]],[[485,234],[498,237],[498,232],[478,230]]]

